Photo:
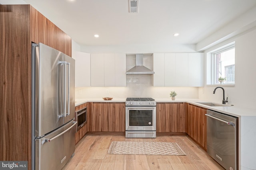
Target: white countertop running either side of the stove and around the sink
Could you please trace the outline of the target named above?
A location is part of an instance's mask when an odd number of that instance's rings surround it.
[[[236,116],[236,117],[241,117],[241,116],[256,116],[256,109],[249,109],[249,108],[242,108],[242,107],[235,107],[235,106],[206,106],[204,104],[199,104],[197,102],[210,102],[210,101],[202,101],[198,99],[176,99],[176,100],[171,100],[170,98],[168,99],[155,99],[156,102],[186,102],[189,104],[194,104],[196,106],[204,107],[207,109],[211,109],[214,111],[219,111],[221,113],[226,113],[228,115]],[[112,99],[112,100],[103,100],[100,98],[90,98],[90,99],[76,99],[75,106],[79,106],[81,104],[84,104],[86,102],[126,102],[125,98],[122,99]]]

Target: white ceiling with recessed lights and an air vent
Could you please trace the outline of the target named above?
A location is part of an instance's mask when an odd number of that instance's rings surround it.
[[[256,0],[139,0],[139,12],[129,13],[128,0],[0,0],[11,3],[31,4],[80,45],[196,44],[256,6]]]

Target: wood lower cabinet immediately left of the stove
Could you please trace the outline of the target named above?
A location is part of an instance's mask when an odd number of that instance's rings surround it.
[[[125,131],[125,103],[92,102],[90,108],[90,132]]]

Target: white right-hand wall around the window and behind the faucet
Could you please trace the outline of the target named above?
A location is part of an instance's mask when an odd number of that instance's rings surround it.
[[[236,43],[235,86],[222,86],[225,89],[225,96],[228,97],[227,104],[256,109],[256,28],[238,35],[226,43],[234,40]],[[207,85],[199,88],[199,99],[221,103],[222,90],[217,89],[216,93],[212,94],[214,88],[216,86]]]

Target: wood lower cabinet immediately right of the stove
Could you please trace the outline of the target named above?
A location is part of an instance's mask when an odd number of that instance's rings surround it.
[[[186,132],[186,103],[157,103],[156,132]]]

